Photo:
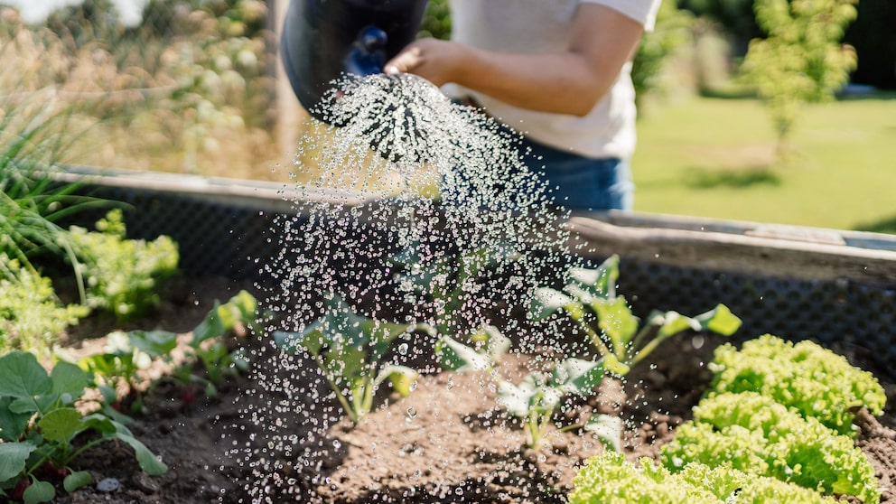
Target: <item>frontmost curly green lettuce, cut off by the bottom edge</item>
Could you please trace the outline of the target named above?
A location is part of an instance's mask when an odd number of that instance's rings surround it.
[[[830,503],[834,499],[773,478],[728,466],[689,463],[668,471],[647,458],[627,462],[621,453],[588,459],[573,480],[569,504],[722,504],[737,502]]]

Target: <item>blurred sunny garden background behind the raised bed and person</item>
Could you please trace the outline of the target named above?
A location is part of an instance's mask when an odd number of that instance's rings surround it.
[[[313,176],[278,56],[288,2],[0,0],[0,154]],[[892,0],[666,0],[633,73],[635,210],[896,232],[892,26]],[[420,35],[450,29],[430,0]]]

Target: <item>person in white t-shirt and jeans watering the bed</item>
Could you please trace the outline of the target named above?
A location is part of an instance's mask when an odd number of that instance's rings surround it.
[[[630,210],[631,61],[660,0],[450,0],[452,38],[387,61],[523,135],[520,152],[569,210]],[[535,164],[535,165],[533,165]]]

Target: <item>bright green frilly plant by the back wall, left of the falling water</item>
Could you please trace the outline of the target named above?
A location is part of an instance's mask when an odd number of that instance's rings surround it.
[[[72,226],[68,237],[77,247],[87,280],[87,304],[127,321],[161,303],[159,288],[177,273],[177,244],[166,236],[153,241],[127,239],[121,210],[99,219],[97,231]]]

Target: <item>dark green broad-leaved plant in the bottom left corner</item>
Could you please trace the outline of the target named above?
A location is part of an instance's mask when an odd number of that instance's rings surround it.
[[[54,482],[61,481],[66,491],[89,484],[89,472],[70,466],[81,453],[107,441],[129,445],[151,476],[168,470],[124,424],[75,408],[89,378],[68,362],[57,363],[48,374],[31,353],[0,357],[0,495],[26,504],[49,502],[55,498]],[[95,436],[76,443],[84,433]]]

